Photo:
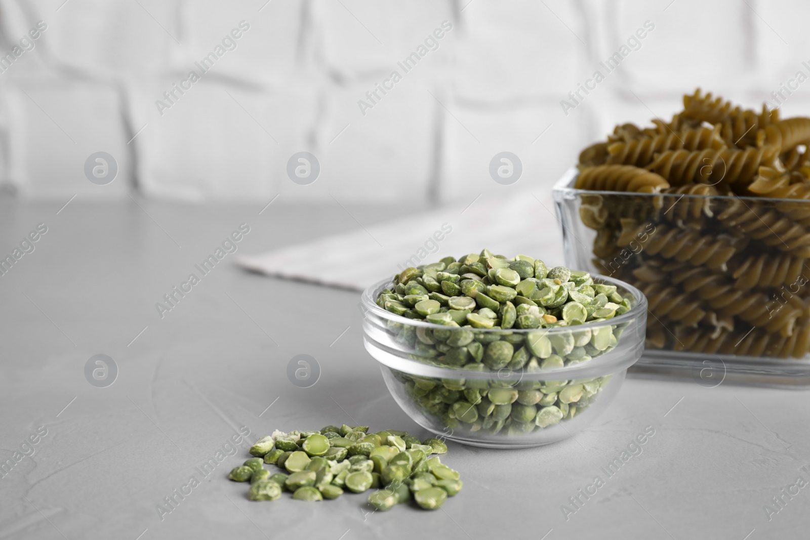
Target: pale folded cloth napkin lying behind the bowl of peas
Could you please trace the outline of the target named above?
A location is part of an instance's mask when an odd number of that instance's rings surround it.
[[[480,197],[418,215],[282,249],[237,257],[236,264],[279,278],[362,291],[408,266],[461,257],[481,249],[525,253],[548,267],[563,264],[560,224],[551,193]],[[318,264],[313,264],[318,261]]]

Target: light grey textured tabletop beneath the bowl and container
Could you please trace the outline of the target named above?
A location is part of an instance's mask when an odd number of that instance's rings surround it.
[[[810,393],[673,381],[629,379],[594,425],[545,448],[450,444],[464,489],[438,512],[368,513],[364,495],[252,503],[225,479],[247,457],[245,441],[225,455],[240,430],[250,442],[329,423],[424,434],[364,351],[359,295],[247,274],[227,255],[163,318],[155,304],[240,223],[247,253],[354,219],[336,205],[62,204],[0,202],[3,257],[48,227],[0,277],[0,460],[13,462],[0,538],[807,538],[810,487],[791,486],[810,480]],[[390,209],[349,210],[369,224]],[[96,354],[117,364],[113,385],[85,378]],[[311,388],[286,376],[298,354],[322,369]],[[641,453],[605,474],[645,430]]]

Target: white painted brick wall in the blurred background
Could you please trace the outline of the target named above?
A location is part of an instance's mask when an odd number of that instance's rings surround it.
[[[799,0],[0,0],[0,193],[416,210],[506,189],[488,173],[500,151],[550,187],[614,124],[668,120],[697,86],[758,107],[810,75],[808,15]],[[810,83],[791,85],[784,112],[810,113]],[[84,176],[96,151],[112,184]],[[298,151],[321,165],[311,185],[285,173]]]

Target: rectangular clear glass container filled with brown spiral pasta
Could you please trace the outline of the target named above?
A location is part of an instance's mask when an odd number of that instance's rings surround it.
[[[810,201],[590,191],[577,174],[553,190],[566,264],[650,303],[631,372],[810,388]]]

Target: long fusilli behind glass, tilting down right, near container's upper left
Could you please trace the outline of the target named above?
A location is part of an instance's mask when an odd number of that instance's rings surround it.
[[[622,219],[622,230],[616,245],[625,247],[637,240],[649,255],[673,258],[676,261],[689,261],[695,266],[706,265],[712,270],[726,270],[726,263],[744,249],[747,240],[728,235],[706,235],[694,229],[681,230],[663,223],[637,223],[634,219]]]

